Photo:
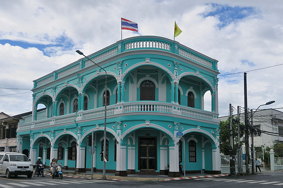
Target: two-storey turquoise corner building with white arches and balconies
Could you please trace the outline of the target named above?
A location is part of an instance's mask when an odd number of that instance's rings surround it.
[[[115,175],[218,173],[217,60],[171,39],[120,40],[34,81],[32,119],[20,121],[18,150],[49,163],[53,157],[77,172],[102,171],[104,106],[107,106],[107,172]],[[203,96],[211,93],[211,112]],[[37,111],[38,104],[46,110]],[[43,115],[42,115],[43,114]],[[30,118],[30,117],[29,117]],[[177,132],[185,138],[186,157]],[[179,144],[180,143],[180,144]]]

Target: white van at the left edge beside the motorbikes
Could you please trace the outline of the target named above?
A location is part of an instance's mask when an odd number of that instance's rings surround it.
[[[31,178],[33,166],[26,155],[17,152],[0,152],[0,174],[6,178],[18,175],[27,175]]]

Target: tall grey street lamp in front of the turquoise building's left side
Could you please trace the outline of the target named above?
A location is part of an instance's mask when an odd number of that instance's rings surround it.
[[[76,52],[78,53],[78,54],[80,54],[80,55],[83,55],[83,56],[85,56],[84,55],[84,53],[82,53],[80,50],[76,50]],[[86,56],[85,56],[86,57]],[[93,62],[91,59],[89,59],[88,57],[86,57],[88,60],[90,60],[92,63],[94,63],[95,65],[97,65],[95,62]],[[107,100],[107,90],[106,90],[106,88],[107,88],[107,72],[106,72],[106,70],[105,69],[103,69],[101,66],[99,66],[99,65],[97,65],[98,67],[100,67],[102,70],[104,70],[105,71],[105,97],[104,97],[104,100],[105,100],[105,102],[104,102],[104,104],[105,104],[105,109],[104,109],[104,141],[103,141],[103,176],[102,176],[102,179],[103,180],[106,180],[107,178],[106,178],[106,176],[105,176],[105,169],[106,169],[106,161],[105,161],[105,159],[104,159],[104,153],[105,153],[105,150],[106,150],[106,105],[107,105],[107,102],[106,102],[106,100]],[[92,139],[93,139],[93,137],[92,137]]]

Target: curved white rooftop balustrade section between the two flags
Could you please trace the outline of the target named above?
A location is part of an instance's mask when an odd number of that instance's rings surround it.
[[[134,48],[159,48],[170,51],[171,44],[163,43],[159,41],[136,41],[129,42],[125,44],[125,50],[134,49]]]

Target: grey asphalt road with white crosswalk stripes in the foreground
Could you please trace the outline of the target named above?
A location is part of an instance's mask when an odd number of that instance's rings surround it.
[[[20,188],[20,187],[37,187],[52,186],[52,187],[68,187],[68,188],[116,188],[116,187],[154,187],[166,188],[170,187],[229,187],[229,188],[245,188],[245,187],[282,187],[283,188],[283,171],[270,172],[265,171],[257,175],[247,176],[223,176],[215,178],[188,179],[188,180],[170,180],[170,181],[104,181],[104,180],[89,180],[81,178],[67,178],[62,180],[51,180],[49,175],[46,177],[27,178],[19,175],[6,179],[5,175],[0,175],[0,187],[4,188]]]

